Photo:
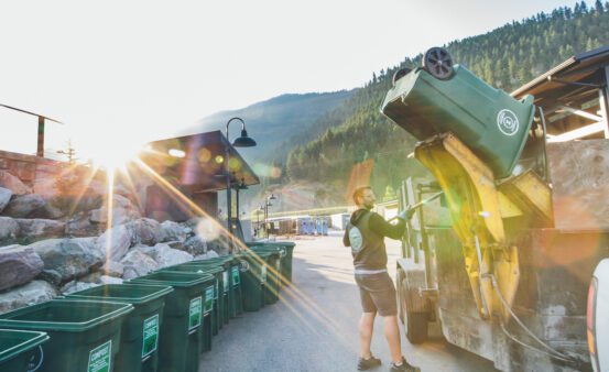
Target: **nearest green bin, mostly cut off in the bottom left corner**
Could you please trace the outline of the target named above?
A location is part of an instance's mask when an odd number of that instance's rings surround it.
[[[45,332],[0,329],[0,371],[35,371],[42,362],[42,343],[48,340]]]

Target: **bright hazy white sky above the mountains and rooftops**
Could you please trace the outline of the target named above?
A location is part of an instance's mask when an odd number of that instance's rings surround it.
[[[48,124],[50,145],[100,153],[281,94],[359,87],[431,46],[574,4],[4,1],[0,103],[65,122]],[[35,118],[0,108],[0,149],[35,152]]]

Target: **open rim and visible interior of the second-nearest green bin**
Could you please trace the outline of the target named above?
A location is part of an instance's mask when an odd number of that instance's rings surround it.
[[[52,299],[0,315],[0,327],[81,332],[122,317],[132,310],[131,304]]]

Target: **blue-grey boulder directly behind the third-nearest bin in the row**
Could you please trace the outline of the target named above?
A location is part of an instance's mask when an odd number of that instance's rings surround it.
[[[61,283],[84,276],[104,264],[104,251],[96,247],[97,238],[48,239],[28,247],[44,262],[44,270],[59,275]]]

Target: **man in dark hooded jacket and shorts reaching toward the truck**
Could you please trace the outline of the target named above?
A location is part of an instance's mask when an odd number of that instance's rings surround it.
[[[383,317],[384,337],[391,352],[391,371],[420,371],[402,357],[400,329],[398,328],[398,304],[395,286],[387,272],[387,250],[384,237],[400,239],[404,234],[405,218],[412,211],[398,216],[398,223],[387,222],[380,215],[371,211],[374,207],[374,193],[368,186],[354,193],[358,206],[345,230],[342,243],[351,247],[356,283],[359,287],[363,314],[359,321],[360,355],[358,370],[363,371],[381,364],[370,351],[372,329],[377,313]]]

